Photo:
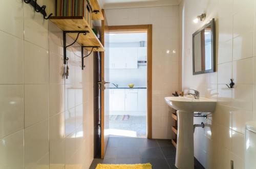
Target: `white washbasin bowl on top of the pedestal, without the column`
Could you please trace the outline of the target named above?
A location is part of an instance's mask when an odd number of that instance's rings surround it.
[[[200,97],[199,99],[188,97],[165,97],[165,102],[176,110],[214,112],[216,101]]]

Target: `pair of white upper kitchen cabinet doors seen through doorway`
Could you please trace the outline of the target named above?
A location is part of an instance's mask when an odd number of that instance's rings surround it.
[[[110,48],[110,69],[138,69],[138,48]]]

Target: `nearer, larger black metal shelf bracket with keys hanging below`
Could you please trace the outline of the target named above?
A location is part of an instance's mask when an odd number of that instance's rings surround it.
[[[67,48],[76,43],[80,34],[87,35],[87,33],[89,33],[89,31],[63,31],[63,56],[65,65],[69,60],[69,58],[67,57]],[[67,45],[67,34],[77,34],[76,39],[70,45]]]

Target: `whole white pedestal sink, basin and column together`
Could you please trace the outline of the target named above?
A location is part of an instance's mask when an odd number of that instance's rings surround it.
[[[202,98],[165,97],[165,102],[177,110],[178,133],[175,165],[181,169],[194,169],[194,122],[195,111],[214,112],[216,101]]]

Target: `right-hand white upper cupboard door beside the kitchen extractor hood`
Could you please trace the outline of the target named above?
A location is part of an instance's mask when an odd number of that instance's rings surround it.
[[[138,48],[137,47],[126,48],[125,68],[138,69]]]

